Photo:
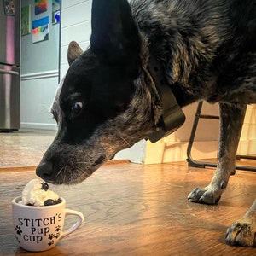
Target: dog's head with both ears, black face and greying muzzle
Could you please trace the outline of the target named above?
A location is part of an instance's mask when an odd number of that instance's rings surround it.
[[[83,181],[152,132],[160,116],[129,4],[95,0],[91,22],[90,49],[69,45],[70,67],[52,106],[58,132],[37,168],[47,182]]]

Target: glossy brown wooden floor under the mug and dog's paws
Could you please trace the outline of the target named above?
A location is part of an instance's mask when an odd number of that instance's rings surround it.
[[[35,254],[22,250],[12,232],[10,201],[35,177],[33,167],[25,170],[0,169],[0,255],[256,255],[256,248],[224,243],[228,226],[256,198],[254,172],[237,171],[218,205],[206,206],[187,195],[207,185],[211,168],[186,162],[102,166],[79,185],[51,187],[68,208],[84,213],[84,224],[52,250]]]

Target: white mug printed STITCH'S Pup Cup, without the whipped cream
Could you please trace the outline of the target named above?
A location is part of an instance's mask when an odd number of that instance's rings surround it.
[[[64,236],[69,235],[84,222],[81,212],[66,209],[66,201],[47,207],[32,207],[20,204],[21,197],[12,201],[15,237],[20,247],[27,251],[46,251],[55,247]],[[63,230],[65,217],[74,215],[77,222],[68,230]]]

